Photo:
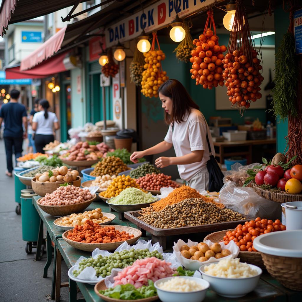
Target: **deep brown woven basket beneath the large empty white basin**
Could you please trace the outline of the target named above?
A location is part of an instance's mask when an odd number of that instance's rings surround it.
[[[261,253],[267,271],[283,286],[302,291],[302,258],[290,258]]]

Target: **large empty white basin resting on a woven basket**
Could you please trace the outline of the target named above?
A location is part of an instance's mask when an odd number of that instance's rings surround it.
[[[302,258],[302,230],[272,232],[253,241],[257,251],[268,255]]]

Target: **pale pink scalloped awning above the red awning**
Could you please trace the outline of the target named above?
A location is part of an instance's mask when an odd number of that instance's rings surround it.
[[[62,42],[65,37],[65,31],[67,26],[60,29],[56,34],[44,42],[39,48],[28,55],[21,61],[20,70],[24,71],[31,69],[44,60],[53,56],[58,50],[61,49]]]

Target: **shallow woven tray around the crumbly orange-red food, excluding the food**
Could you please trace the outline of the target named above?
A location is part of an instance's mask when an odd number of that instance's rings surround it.
[[[87,251],[87,252],[92,252],[94,249],[98,248],[100,250],[104,251],[114,251],[117,249],[122,243],[125,241],[128,244],[132,244],[136,242],[140,237],[142,236],[142,232],[140,230],[137,230],[133,227],[130,226],[118,226],[118,225],[104,225],[102,227],[106,226],[114,226],[115,230],[118,230],[120,232],[125,231],[126,233],[129,233],[130,235],[134,235],[133,238],[124,240],[124,241],[119,241],[119,242],[111,242],[111,243],[82,243],[82,242],[76,242],[73,240],[70,240],[67,238],[67,235],[69,232],[72,232],[72,230],[66,231],[62,234],[62,238],[72,247],[76,249],[80,249],[81,251]]]

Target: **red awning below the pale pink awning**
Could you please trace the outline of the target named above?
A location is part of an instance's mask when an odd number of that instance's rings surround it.
[[[41,79],[59,72],[66,71],[67,69],[63,63],[63,59],[66,57],[67,53],[68,52],[64,52],[53,56],[29,70],[22,71],[20,66],[6,68],[6,79]]]

